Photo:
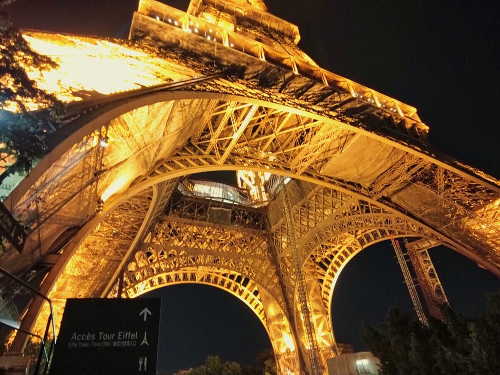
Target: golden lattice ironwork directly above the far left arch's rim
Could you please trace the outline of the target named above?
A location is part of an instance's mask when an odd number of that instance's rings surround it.
[[[153,263],[165,270],[220,266],[251,278],[282,303],[269,251],[265,232],[169,216],[156,224],[126,268]]]

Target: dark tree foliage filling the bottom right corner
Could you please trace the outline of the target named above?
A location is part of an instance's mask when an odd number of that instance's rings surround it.
[[[483,313],[466,317],[444,309],[445,321],[428,327],[398,308],[379,325],[366,325],[364,340],[380,359],[380,375],[493,375],[500,371],[500,291]]]

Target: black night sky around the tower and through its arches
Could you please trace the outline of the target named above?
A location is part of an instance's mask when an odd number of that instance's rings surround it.
[[[164,3],[186,10],[188,2]],[[269,12],[299,27],[299,47],[321,67],[418,109],[430,142],[445,154],[500,177],[500,6],[493,1],[267,0]],[[18,27],[126,37],[136,0],[17,0]],[[452,307],[473,314],[500,280],[442,247],[430,251]],[[269,347],[256,316],[228,293],[178,285],[163,297],[159,367],[200,364],[208,354],[248,363]],[[390,243],[363,250],[335,288],[337,342],[365,349],[361,321],[375,323],[392,305],[411,309]]]

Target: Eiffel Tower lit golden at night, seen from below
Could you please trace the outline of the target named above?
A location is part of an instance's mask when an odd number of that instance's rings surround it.
[[[68,106],[46,156],[4,180],[29,236],[0,264],[39,280],[57,323],[66,298],[207,284],[258,316],[280,374],[318,374],[336,280],[369,245],[408,238],[434,307],[428,248],[500,276],[500,181],[434,150],[415,108],[317,66],[262,1],[141,0],[128,40],[25,37],[59,65],[31,76]],[[238,186],[196,175],[216,171]],[[34,298],[21,327],[48,313]]]

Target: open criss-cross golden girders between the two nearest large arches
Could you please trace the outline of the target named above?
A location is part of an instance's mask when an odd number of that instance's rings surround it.
[[[330,144],[349,133],[345,127],[258,105],[227,102],[223,111],[220,106],[210,109],[213,113],[205,115],[205,133],[191,142],[205,155],[213,149],[219,164],[233,150],[251,149],[258,150],[256,157],[286,162],[301,174],[313,162],[327,160]]]

